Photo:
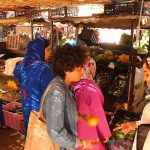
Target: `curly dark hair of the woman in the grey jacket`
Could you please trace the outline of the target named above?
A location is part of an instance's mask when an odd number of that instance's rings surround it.
[[[87,50],[86,45],[72,46],[68,43],[56,47],[52,59],[54,73],[65,79],[66,71],[73,71],[75,67],[84,65],[87,58]]]

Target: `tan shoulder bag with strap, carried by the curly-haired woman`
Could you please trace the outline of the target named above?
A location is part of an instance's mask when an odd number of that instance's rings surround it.
[[[56,84],[58,83],[53,83],[46,89],[42,97],[40,111],[31,111],[30,113],[24,150],[60,150],[60,146],[58,144],[55,144],[48,136],[46,130],[46,122],[44,117],[42,116],[42,106],[44,103],[45,95],[48,90]],[[60,84],[58,85],[60,86]]]

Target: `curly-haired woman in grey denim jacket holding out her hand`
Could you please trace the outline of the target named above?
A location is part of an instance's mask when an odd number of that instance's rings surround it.
[[[70,89],[71,83],[79,81],[84,73],[86,50],[84,45],[65,44],[57,47],[53,55],[56,77],[49,85],[57,85],[46,90],[42,113],[49,137],[60,145],[61,150],[85,148],[85,145],[91,148],[97,144],[97,139],[83,141],[77,138],[77,108]]]

